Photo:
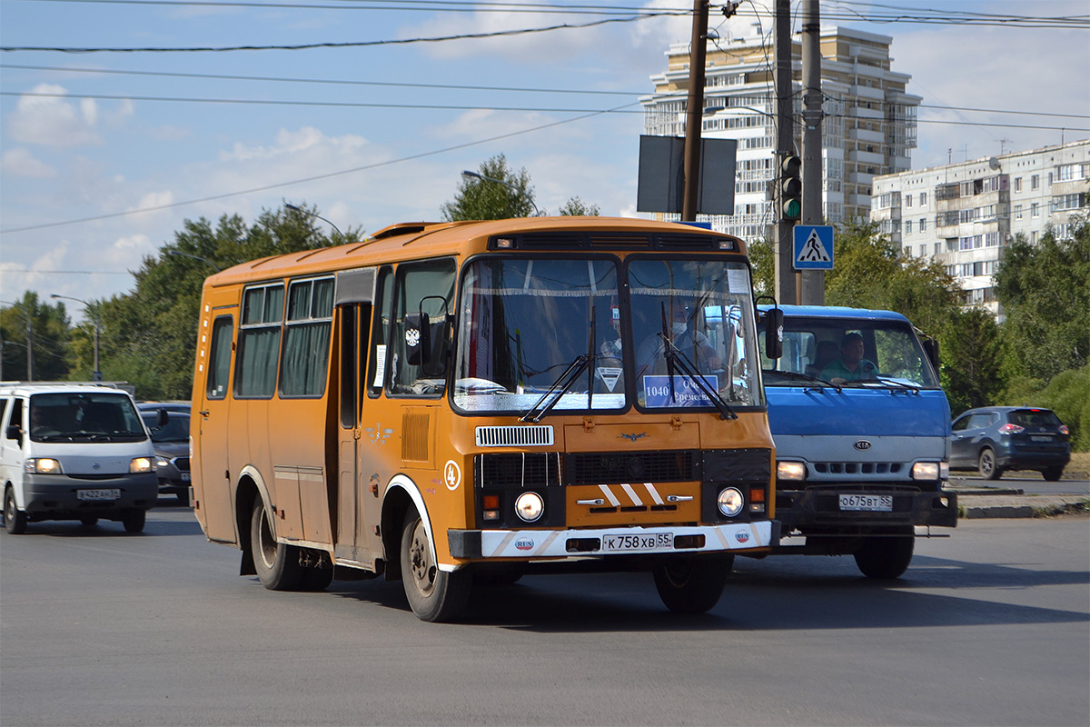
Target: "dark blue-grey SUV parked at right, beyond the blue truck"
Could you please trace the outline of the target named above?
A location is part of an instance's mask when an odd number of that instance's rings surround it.
[[[1056,481],[1071,459],[1067,426],[1051,409],[970,409],[950,429],[950,469],[977,470],[985,480],[1005,470],[1037,470]]]

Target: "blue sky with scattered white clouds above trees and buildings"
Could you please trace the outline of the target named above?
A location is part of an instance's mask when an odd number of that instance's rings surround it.
[[[720,38],[772,27],[772,0],[744,0],[729,21],[719,7]],[[289,203],[367,233],[437,220],[461,171],[499,154],[543,210],[579,197],[643,216],[639,97],[690,37],[691,10],[0,0],[0,305],[27,290],[126,293],[186,219],[250,225]],[[676,14],[630,20],[647,11]],[[916,169],[1090,137],[1088,0],[822,0],[821,12],[893,38],[893,70],[925,107]],[[920,22],[966,12],[1079,20]],[[494,35],[557,25],[572,27]]]

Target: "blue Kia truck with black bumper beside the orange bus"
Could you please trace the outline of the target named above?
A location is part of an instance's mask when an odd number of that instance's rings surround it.
[[[957,525],[937,346],[891,311],[778,307],[783,355],[762,361],[783,528],[774,553],[850,554],[865,575],[898,578],[916,526]]]

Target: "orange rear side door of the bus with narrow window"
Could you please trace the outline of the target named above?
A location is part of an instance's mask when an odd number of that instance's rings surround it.
[[[219,295],[227,299],[230,293]],[[229,423],[233,369],[231,354],[239,308],[237,300],[226,304],[226,300],[217,298],[213,293],[205,300],[206,308],[202,311],[197,337],[197,386],[194,386],[190,427],[196,460],[191,463],[194,475],[193,507],[209,540],[235,543]]]

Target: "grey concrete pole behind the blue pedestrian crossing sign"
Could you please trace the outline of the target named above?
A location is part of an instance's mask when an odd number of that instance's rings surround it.
[[[822,215],[822,93],[821,11],[818,0],[802,0],[802,223],[821,225]],[[802,270],[800,298],[804,305],[825,305],[825,271]]]

